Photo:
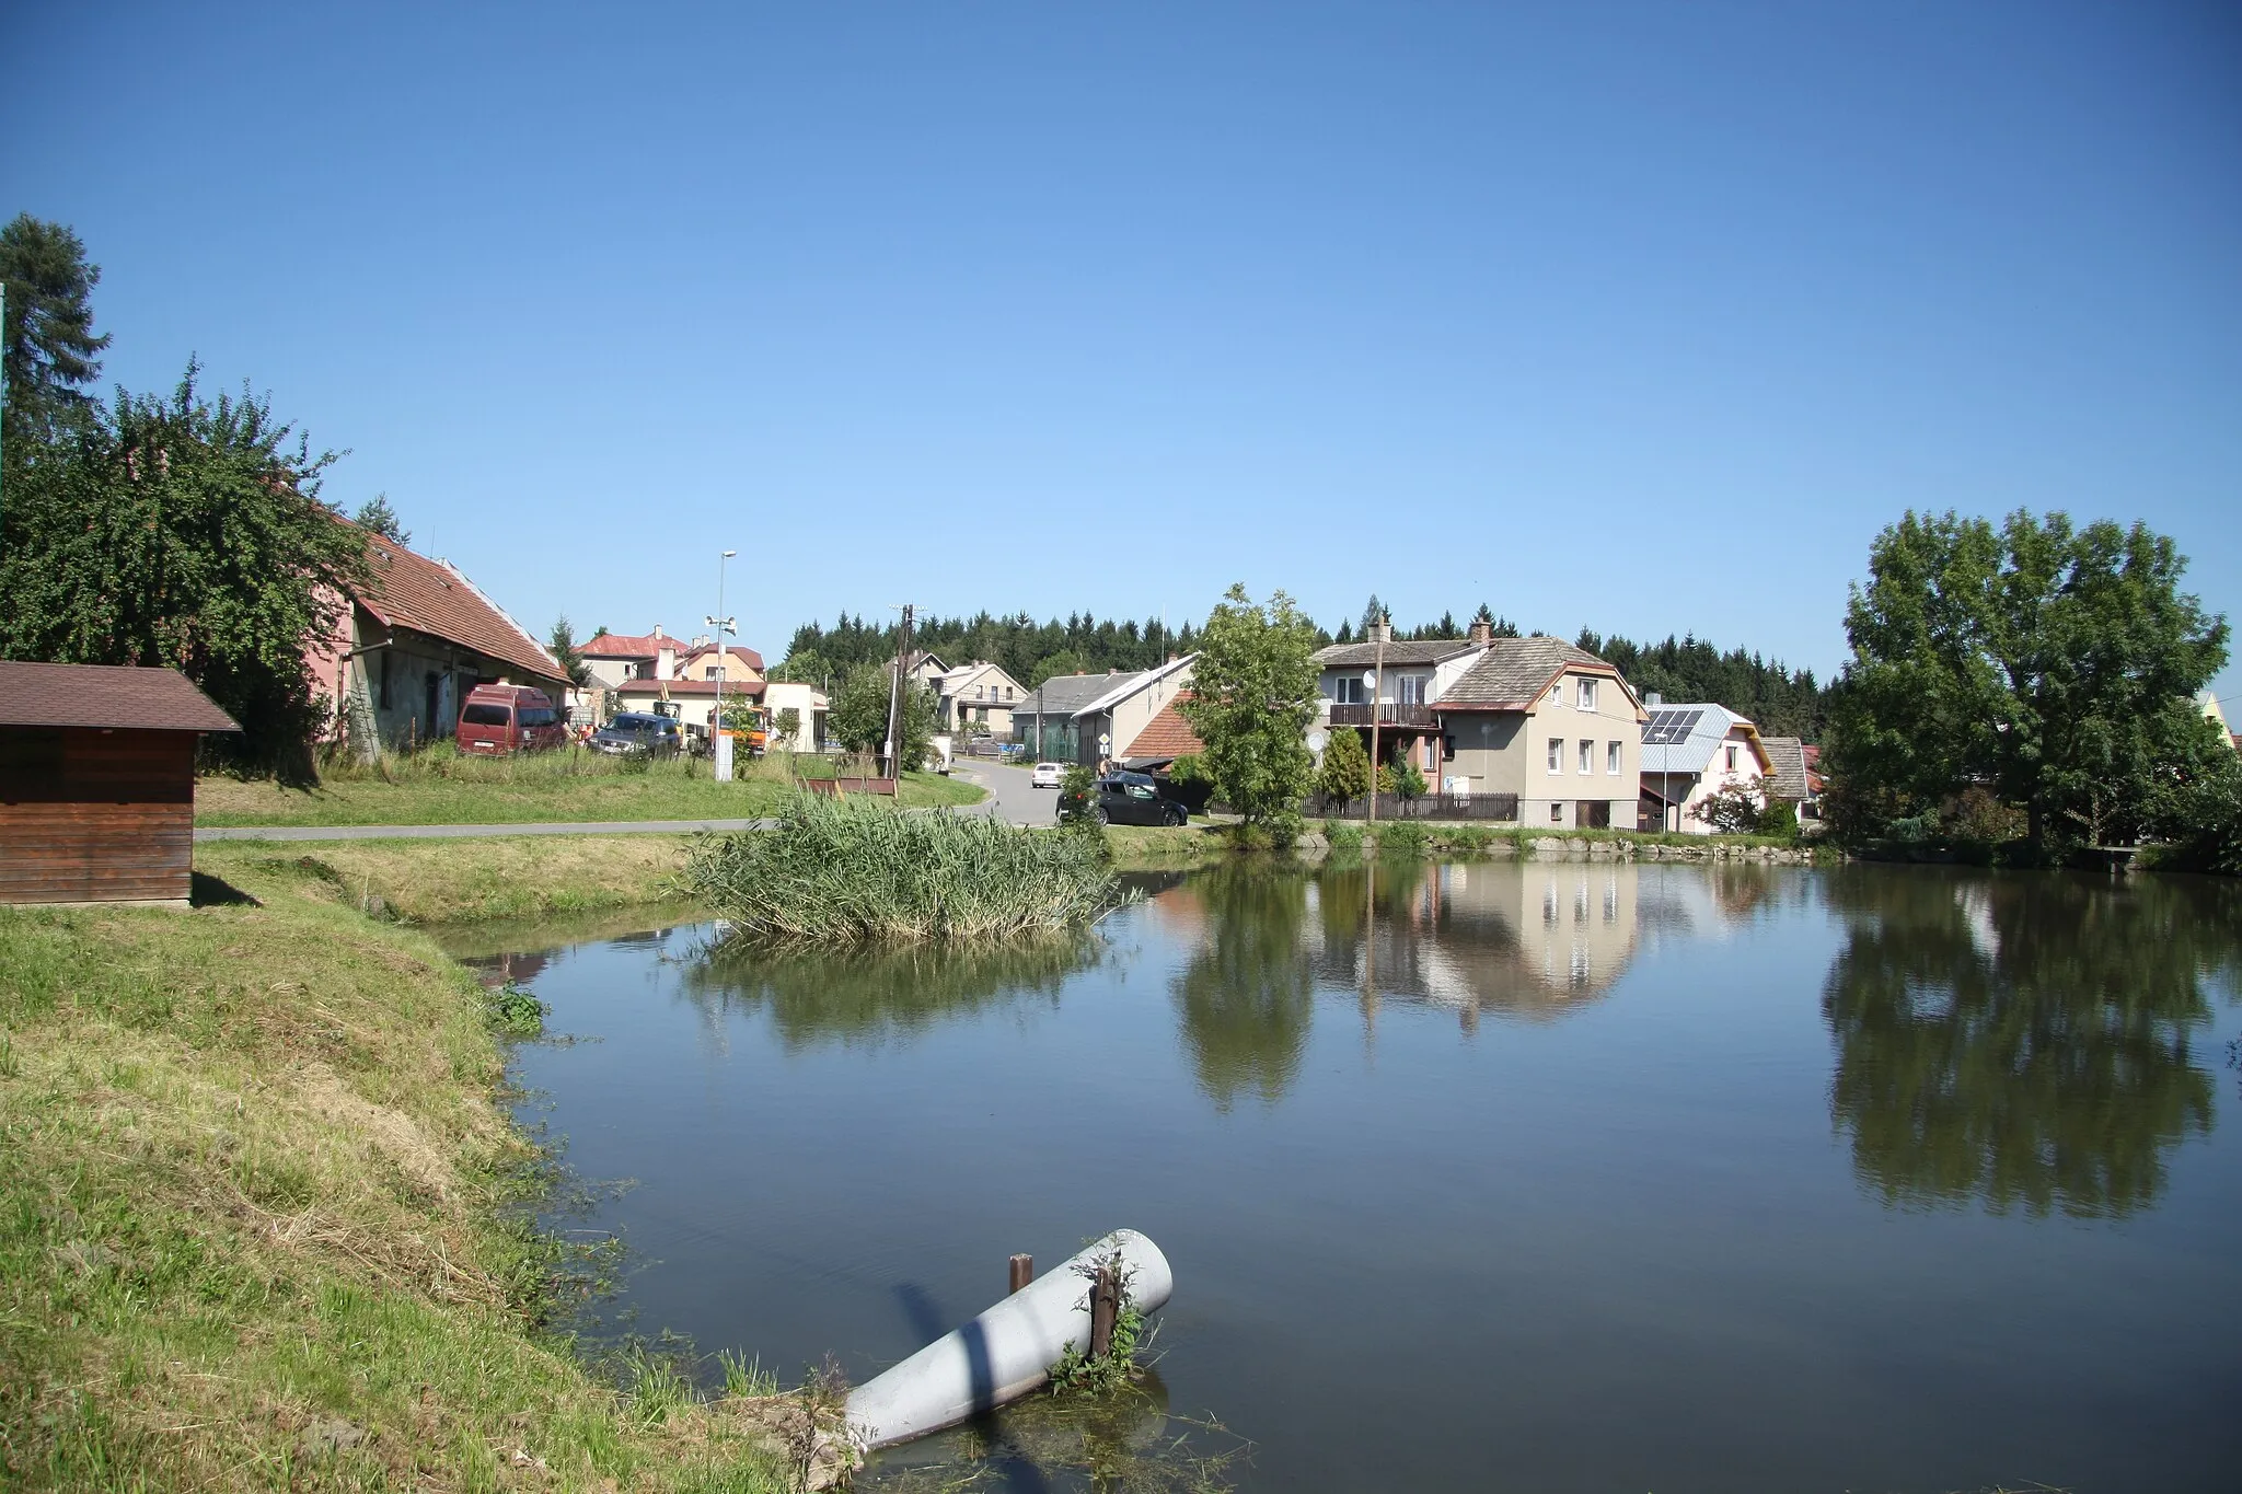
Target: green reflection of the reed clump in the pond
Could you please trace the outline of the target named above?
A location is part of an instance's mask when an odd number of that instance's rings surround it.
[[[1067,977],[1096,963],[1103,950],[1094,934],[845,952],[720,945],[686,965],[682,988],[711,1017],[769,1008],[789,1053],[818,1044],[877,1046],[998,1003],[1058,1006]]]

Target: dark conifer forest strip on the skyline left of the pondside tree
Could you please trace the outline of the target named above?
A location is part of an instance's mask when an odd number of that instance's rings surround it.
[[[874,625],[863,614],[847,611],[832,627],[803,623],[794,629],[778,676],[839,683],[856,665],[895,659],[899,627],[901,623],[892,618]],[[926,650],[953,667],[986,659],[1029,690],[1054,674],[1150,670],[1170,654],[1193,652],[1197,638],[1197,627],[1191,623],[1170,629],[1159,618],[1137,623],[1096,618],[1087,611],[1065,623],[1058,618],[1036,623],[1025,611],[1004,618],[980,611],[971,618],[919,618],[910,629],[915,650]]]

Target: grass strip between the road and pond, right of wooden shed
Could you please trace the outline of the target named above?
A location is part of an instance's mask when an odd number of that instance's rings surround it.
[[[195,869],[325,883],[325,896],[404,923],[547,918],[682,896],[691,835],[491,835],[473,840],[206,840]]]

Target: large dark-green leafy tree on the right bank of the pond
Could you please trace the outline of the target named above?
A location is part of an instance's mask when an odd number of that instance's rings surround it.
[[[2168,538],[2063,513],[1908,513],[1868,569],[1825,757],[1841,829],[1977,784],[2025,811],[2033,844],[2121,842],[2175,784],[2233,773],[2195,706],[2226,663],[2226,618],[2179,589]]]

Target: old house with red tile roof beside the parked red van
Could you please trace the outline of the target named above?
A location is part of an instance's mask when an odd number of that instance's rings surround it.
[[[554,706],[567,699],[560,661],[460,567],[361,533],[368,576],[334,598],[330,641],[305,659],[339,739],[372,755],[451,737],[475,685],[531,685]]]

